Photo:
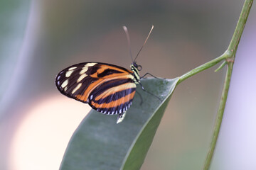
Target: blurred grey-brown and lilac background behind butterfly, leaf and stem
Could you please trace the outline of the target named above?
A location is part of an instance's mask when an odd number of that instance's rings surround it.
[[[221,55],[244,1],[0,1],[0,169],[58,169],[90,106],[55,88],[79,62],[132,62],[142,74],[181,76]],[[242,34],[211,169],[256,169],[256,6]],[[142,169],[201,169],[225,76],[218,66],[180,84]]]

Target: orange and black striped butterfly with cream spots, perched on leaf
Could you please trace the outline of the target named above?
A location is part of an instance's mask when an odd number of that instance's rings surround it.
[[[151,30],[153,28],[154,26]],[[129,43],[129,35],[125,26],[124,30]],[[141,50],[142,48],[139,52]],[[55,84],[60,93],[65,96],[88,103],[100,113],[118,115],[117,123],[119,123],[122,122],[127,109],[132,105],[137,84],[142,85],[140,82],[142,77],[139,77],[139,70],[142,67],[137,64],[136,58],[130,66],[131,70],[101,62],[75,64],[63,69],[57,75]],[[143,86],[142,89],[144,89]]]

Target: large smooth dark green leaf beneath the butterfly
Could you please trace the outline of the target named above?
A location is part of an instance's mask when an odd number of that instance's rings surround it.
[[[122,123],[116,123],[117,115],[90,111],[75,130],[60,169],[139,169],[178,79],[142,79],[144,88],[163,102],[138,86],[143,103],[135,95]]]

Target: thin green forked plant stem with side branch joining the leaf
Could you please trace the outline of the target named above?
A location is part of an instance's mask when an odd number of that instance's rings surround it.
[[[178,80],[177,84],[180,84],[182,81],[188,79],[189,77],[192,77],[194,74],[198,74],[199,72],[202,72],[205,69],[208,69],[210,67],[213,67],[215,64],[218,64],[219,62],[225,60],[225,62],[223,62],[223,64],[220,65],[220,67],[218,69],[216,69],[216,71],[218,71],[219,69],[223,68],[225,66],[225,64],[228,64],[228,69],[226,72],[226,76],[225,76],[225,81],[223,84],[223,92],[222,92],[222,96],[220,99],[220,106],[218,108],[218,113],[217,113],[217,118],[215,120],[215,125],[213,128],[213,137],[212,140],[210,142],[210,147],[208,150],[208,155],[206,157],[206,161],[204,163],[203,166],[203,170],[208,170],[210,169],[210,163],[212,161],[213,158],[213,153],[215,150],[215,145],[216,142],[218,140],[218,134],[220,132],[220,125],[223,119],[223,113],[225,110],[225,103],[227,101],[227,97],[228,97],[228,89],[230,86],[230,79],[231,79],[231,74],[233,71],[233,64],[235,61],[235,54],[236,51],[238,50],[238,44],[240,42],[240,38],[242,35],[242,32],[245,28],[245,23],[247,21],[247,18],[249,16],[250,13],[250,8],[252,6],[252,2],[253,0],[245,0],[244,5],[242,6],[242,11],[240,13],[240,17],[238,19],[238,24],[235,28],[233,37],[230,41],[230,45],[228,46],[228,50],[225,51],[225,53],[223,55],[220,55],[220,57],[215,58],[214,60],[211,60],[210,62],[207,62],[206,64],[202,64],[199,67],[196,67],[196,69],[192,69],[190,72],[187,72],[186,74],[183,74],[180,79]]]

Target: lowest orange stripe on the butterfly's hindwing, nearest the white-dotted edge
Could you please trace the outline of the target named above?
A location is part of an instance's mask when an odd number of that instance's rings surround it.
[[[92,101],[91,104],[92,104],[92,106],[95,106],[95,108],[114,108],[114,107],[121,105],[122,103],[125,103],[125,102],[131,100],[131,98],[134,98],[134,94],[135,94],[135,91],[132,92],[131,94],[128,94],[127,96],[119,98],[117,101],[111,101],[110,103],[98,104],[98,103],[95,103]]]

